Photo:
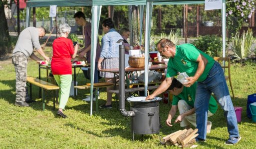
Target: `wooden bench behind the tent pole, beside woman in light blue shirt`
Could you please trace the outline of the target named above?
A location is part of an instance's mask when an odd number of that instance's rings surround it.
[[[114,86],[114,83],[109,83],[109,82],[93,83],[93,88],[96,88],[96,90],[95,90],[96,112],[99,111],[98,89],[99,88],[104,88],[104,87],[110,87],[110,86]],[[91,88],[91,83],[86,83],[86,85],[74,86],[74,88],[77,88],[77,89],[89,89],[89,88]]]

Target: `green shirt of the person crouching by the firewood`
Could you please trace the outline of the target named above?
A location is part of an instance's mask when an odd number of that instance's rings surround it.
[[[197,82],[190,87],[183,87],[183,91],[178,96],[173,96],[172,105],[178,105],[179,100],[185,100],[188,105],[194,108],[195,98],[196,98]],[[211,113],[216,113],[218,105],[213,96],[211,96],[209,101],[209,111]]]

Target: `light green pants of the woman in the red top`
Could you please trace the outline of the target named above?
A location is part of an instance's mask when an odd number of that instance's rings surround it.
[[[72,81],[71,74],[53,75],[59,86],[59,108],[65,109]]]

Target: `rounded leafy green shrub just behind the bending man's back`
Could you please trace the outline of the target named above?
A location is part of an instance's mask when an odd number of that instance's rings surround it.
[[[200,36],[192,44],[211,57],[222,57],[222,41],[216,35]]]

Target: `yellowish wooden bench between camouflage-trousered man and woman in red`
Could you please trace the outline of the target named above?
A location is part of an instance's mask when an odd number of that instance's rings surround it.
[[[29,90],[30,90],[30,98],[32,99],[32,84],[33,85],[36,85],[38,87],[41,87],[42,88],[42,108],[43,108],[43,111],[45,109],[45,96],[44,96],[44,92],[43,90],[52,90],[52,91],[56,91],[59,89],[59,86],[57,85],[54,85],[52,83],[49,83],[49,82],[46,82],[46,81],[43,81],[43,80],[40,80],[38,78],[34,78],[34,77],[31,77],[31,76],[27,76],[26,78],[26,81],[29,83]],[[53,108],[55,109],[55,96],[56,95],[56,92],[53,93]]]

